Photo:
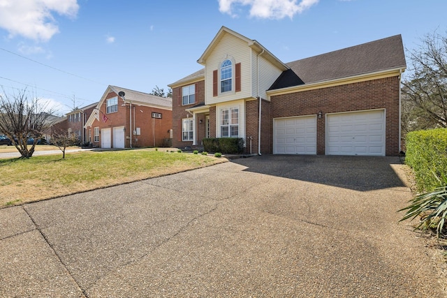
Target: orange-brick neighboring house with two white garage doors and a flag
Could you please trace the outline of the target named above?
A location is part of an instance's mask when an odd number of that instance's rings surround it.
[[[109,86],[85,124],[94,147],[170,146],[172,98]]]

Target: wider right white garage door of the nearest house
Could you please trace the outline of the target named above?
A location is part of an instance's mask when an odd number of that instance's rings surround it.
[[[327,155],[385,156],[385,111],[328,114]]]

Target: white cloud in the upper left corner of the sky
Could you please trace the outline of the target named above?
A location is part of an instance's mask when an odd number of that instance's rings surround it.
[[[77,0],[0,0],[0,27],[9,37],[48,41],[59,32],[54,13],[75,17]]]

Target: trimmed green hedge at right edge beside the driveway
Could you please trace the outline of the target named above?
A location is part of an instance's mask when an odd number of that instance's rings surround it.
[[[418,191],[433,191],[439,185],[435,175],[447,174],[447,128],[408,133],[405,163],[416,174]]]

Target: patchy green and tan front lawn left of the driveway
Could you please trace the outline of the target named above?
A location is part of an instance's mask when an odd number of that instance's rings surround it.
[[[215,163],[219,158],[154,149],[82,151],[0,159],[0,208],[105,186],[159,177]]]

